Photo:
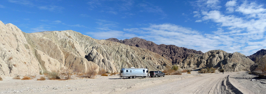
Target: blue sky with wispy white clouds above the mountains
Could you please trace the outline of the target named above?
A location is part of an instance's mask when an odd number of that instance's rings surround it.
[[[245,0],[1,0],[0,20],[23,32],[73,30],[189,49],[251,55],[266,49],[266,2]]]

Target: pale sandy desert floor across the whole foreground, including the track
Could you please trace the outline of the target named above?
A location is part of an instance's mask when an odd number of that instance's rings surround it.
[[[107,93],[234,93],[226,86],[226,77],[234,79],[233,75],[238,76],[247,72],[221,72],[199,74],[192,71],[191,74],[166,75],[157,78],[119,78],[119,75],[100,76],[95,79],[81,79],[73,76],[72,80],[43,80],[38,81],[39,75],[31,80],[17,80],[12,77],[5,77],[0,81],[0,93],[82,93],[82,94],[107,94]],[[243,76],[244,77],[244,76]],[[252,76],[253,77],[253,76]],[[255,76],[254,76],[255,77]],[[247,80],[251,78],[247,78]],[[246,81],[248,82],[248,81]],[[232,84],[247,88],[245,93],[265,93],[266,89],[260,91],[245,86],[245,81],[235,79]],[[261,84],[259,81],[249,81],[248,86]],[[246,84],[247,85],[247,84]],[[265,84],[263,84],[265,86]],[[254,87],[256,88],[256,87]],[[263,90],[264,89],[264,90]]]

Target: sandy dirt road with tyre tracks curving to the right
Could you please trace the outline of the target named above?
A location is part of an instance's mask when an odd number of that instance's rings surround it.
[[[229,72],[225,74],[211,74],[211,75],[197,75],[184,79],[177,79],[175,81],[168,81],[165,83],[153,85],[144,89],[138,89],[136,91],[130,91],[133,93],[154,93],[159,94],[186,94],[186,93],[200,93],[200,94],[213,94],[213,93],[231,93],[226,89],[224,85],[226,76],[234,74],[235,72]],[[222,83],[223,82],[223,83]]]

